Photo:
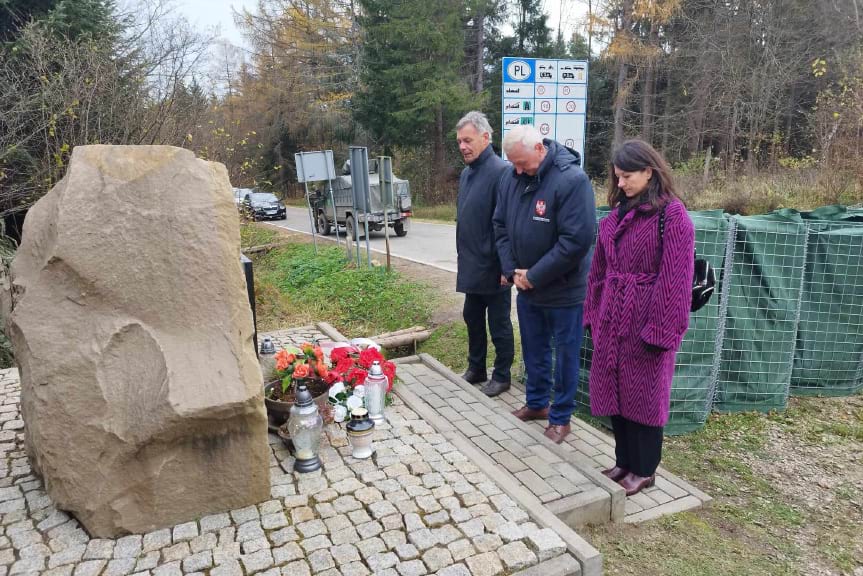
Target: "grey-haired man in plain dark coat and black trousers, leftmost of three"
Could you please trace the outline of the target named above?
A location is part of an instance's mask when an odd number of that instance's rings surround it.
[[[482,112],[468,112],[456,124],[459,150],[467,166],[458,189],[456,290],[464,293],[463,316],[467,325],[468,369],[463,378],[471,384],[485,382],[488,340],[494,343],[494,372],[482,391],[497,396],[509,389],[514,356],[510,284],[501,275],[491,218],[497,205],[498,187],[507,164],[491,147],[491,126]]]

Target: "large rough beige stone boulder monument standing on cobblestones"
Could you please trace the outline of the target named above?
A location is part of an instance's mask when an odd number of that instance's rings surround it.
[[[27,451],[93,536],[266,500],[267,419],[221,164],[80,146],[27,215],[8,321]]]

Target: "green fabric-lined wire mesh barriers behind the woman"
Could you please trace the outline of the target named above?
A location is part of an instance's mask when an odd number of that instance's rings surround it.
[[[789,394],[860,392],[863,210],[690,216],[698,254],[719,282],[717,295],[690,318],[667,432],[695,430],[711,410],[782,410]],[[588,335],[577,395],[586,413],[592,351]]]

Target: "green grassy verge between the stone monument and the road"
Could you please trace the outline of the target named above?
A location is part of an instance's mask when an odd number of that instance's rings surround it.
[[[349,336],[427,324],[433,298],[424,285],[385,268],[356,268],[341,248],[289,244],[255,259],[258,329],[326,321]]]

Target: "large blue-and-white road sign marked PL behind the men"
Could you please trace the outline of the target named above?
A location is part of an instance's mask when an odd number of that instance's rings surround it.
[[[587,61],[503,59],[501,132],[532,124],[581,154],[587,118]]]

